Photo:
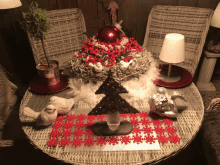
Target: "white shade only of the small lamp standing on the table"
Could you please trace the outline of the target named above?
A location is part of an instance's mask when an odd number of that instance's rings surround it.
[[[180,63],[185,60],[184,35],[170,33],[165,36],[159,58],[167,63]]]

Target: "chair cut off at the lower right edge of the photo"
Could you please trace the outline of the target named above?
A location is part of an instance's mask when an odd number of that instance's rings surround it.
[[[202,126],[203,148],[209,165],[220,164],[220,98],[205,110]]]

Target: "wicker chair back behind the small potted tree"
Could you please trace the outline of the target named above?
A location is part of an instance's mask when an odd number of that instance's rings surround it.
[[[44,41],[45,51],[49,60],[57,60],[59,65],[71,59],[74,51],[77,51],[87,40],[86,24],[80,9],[58,9],[47,11],[51,22],[51,28]],[[45,61],[41,41],[34,40],[28,33],[35,63]]]

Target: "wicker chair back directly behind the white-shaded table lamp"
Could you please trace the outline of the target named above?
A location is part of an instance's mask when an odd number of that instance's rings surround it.
[[[144,38],[143,47],[146,47],[159,60],[165,35],[180,33],[185,36],[184,62],[177,64],[194,75],[199,63],[206,35],[213,15],[212,9],[157,5],[151,9]]]

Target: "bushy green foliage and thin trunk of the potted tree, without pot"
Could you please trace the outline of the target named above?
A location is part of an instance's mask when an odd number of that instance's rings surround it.
[[[23,20],[20,22],[20,26],[26,32],[36,40],[41,40],[44,55],[47,60],[49,66],[49,60],[47,58],[45,48],[44,48],[44,40],[46,40],[47,31],[50,29],[50,22],[48,16],[46,14],[45,9],[38,8],[37,2],[32,2],[29,7],[29,12],[22,13]]]

